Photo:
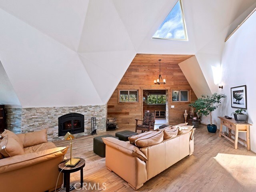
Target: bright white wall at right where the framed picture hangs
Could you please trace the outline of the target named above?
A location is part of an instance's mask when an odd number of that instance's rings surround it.
[[[229,115],[236,110],[231,108],[230,88],[247,86],[248,122],[254,124],[250,127],[251,150],[256,152],[256,12],[242,24],[242,26],[225,43],[222,54],[222,76],[220,84],[224,86],[219,90],[227,95],[222,106],[214,113],[214,121],[220,121],[217,116]],[[245,133],[239,137],[246,139]]]

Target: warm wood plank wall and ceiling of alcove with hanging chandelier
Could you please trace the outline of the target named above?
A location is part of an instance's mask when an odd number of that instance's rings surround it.
[[[184,122],[184,110],[189,110],[189,103],[171,103],[171,89],[191,90],[191,101],[197,99],[178,65],[180,62],[192,56],[193,55],[136,54],[108,101],[108,118],[117,118],[120,129],[135,128],[134,119],[142,119],[142,90],[167,89],[169,102],[166,106],[168,109],[166,114],[168,114],[169,124]],[[166,79],[166,84],[152,88],[151,85],[154,85],[154,79],[159,75],[158,59],[162,59],[161,75],[162,78]],[[136,104],[118,104],[118,89],[140,90],[139,102]],[[171,105],[175,107],[171,108]]]

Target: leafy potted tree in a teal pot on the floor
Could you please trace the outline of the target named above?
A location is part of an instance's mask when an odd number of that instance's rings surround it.
[[[221,105],[221,99],[226,98],[225,94],[214,93],[212,96],[202,95],[202,98],[199,98],[190,106],[196,108],[196,111],[199,115],[208,116],[210,115],[210,124],[207,125],[208,132],[215,133],[217,131],[217,126],[212,124],[212,112]]]

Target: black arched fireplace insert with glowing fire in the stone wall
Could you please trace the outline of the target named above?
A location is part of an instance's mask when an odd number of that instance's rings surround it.
[[[58,118],[59,136],[66,135],[67,132],[72,134],[84,132],[84,115],[79,113],[70,113]]]

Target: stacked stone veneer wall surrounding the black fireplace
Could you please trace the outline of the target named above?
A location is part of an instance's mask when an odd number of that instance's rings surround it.
[[[58,136],[58,118],[68,113],[84,115],[83,136],[91,133],[91,118],[96,117],[97,131],[106,130],[106,105],[65,106],[40,108],[6,108],[7,128],[15,133],[26,133],[47,128],[48,141],[60,140]]]

